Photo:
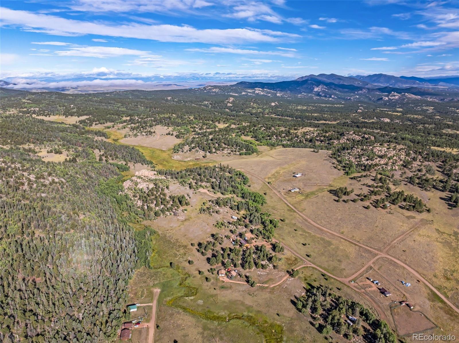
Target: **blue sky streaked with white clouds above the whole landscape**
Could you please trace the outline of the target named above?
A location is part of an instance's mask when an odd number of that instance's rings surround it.
[[[2,0],[1,6],[0,77],[17,83],[459,73],[457,1]]]

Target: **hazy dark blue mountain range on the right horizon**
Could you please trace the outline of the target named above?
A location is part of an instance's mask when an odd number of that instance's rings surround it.
[[[274,83],[238,82],[230,86],[207,86],[198,91],[233,95],[364,100],[387,104],[414,100],[438,102],[459,100],[459,86],[453,83],[457,78],[413,79],[386,74],[351,77],[319,74]]]

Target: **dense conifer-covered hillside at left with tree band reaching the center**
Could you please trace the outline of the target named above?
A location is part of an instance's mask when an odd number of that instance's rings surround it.
[[[189,205],[184,194],[167,193],[169,181],[232,194],[255,208],[265,202],[247,188],[243,173],[222,165],[158,169],[165,179],[129,193],[120,171],[129,170],[128,162],[145,167],[151,162],[137,149],[100,140],[105,137],[101,131],[18,114],[1,115],[0,130],[5,133],[0,138],[4,342],[106,342],[116,337],[127,318],[129,279],[136,268],[150,267],[154,233],[148,227],[134,231],[129,223]],[[45,162],[37,155],[42,148],[56,154],[64,150],[68,157]],[[96,158],[97,150],[103,159]]]

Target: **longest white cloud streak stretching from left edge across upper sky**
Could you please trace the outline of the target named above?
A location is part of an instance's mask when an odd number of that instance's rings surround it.
[[[290,33],[251,28],[197,29],[191,26],[146,25],[139,23],[101,23],[66,19],[29,11],[1,8],[3,25],[16,25],[24,31],[60,36],[95,34],[99,36],[151,39],[161,42],[232,44],[278,42],[279,36],[298,37]],[[283,39],[282,39],[283,40]]]

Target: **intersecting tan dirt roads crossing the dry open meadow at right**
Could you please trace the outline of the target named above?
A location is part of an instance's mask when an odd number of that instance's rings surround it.
[[[312,266],[316,269],[318,269],[319,271],[322,271],[323,273],[325,273],[326,275],[330,276],[330,277],[333,277],[335,278],[336,280],[339,280],[341,282],[345,282],[345,283],[348,283],[349,281],[351,281],[354,277],[357,277],[360,273],[362,273],[366,268],[368,268],[373,262],[375,262],[375,260],[378,260],[379,258],[386,258],[386,259],[389,259],[389,260],[392,260],[394,261],[395,263],[397,263],[399,266],[402,266],[403,268],[407,269],[408,271],[410,271],[415,277],[417,277],[417,279],[419,279],[421,282],[423,282],[427,287],[429,287],[434,293],[436,293],[446,304],[448,304],[454,311],[456,311],[456,313],[459,314],[459,308],[456,307],[453,303],[451,303],[442,293],[440,293],[435,287],[433,287],[430,282],[428,282],[427,280],[425,280],[424,277],[422,277],[417,271],[415,271],[412,267],[406,265],[405,263],[403,263],[402,261],[398,260],[397,258],[393,257],[392,255],[389,255],[387,254],[386,252],[394,245],[396,244],[397,242],[399,242],[401,239],[403,239],[406,235],[408,235],[410,232],[413,232],[417,227],[419,227],[422,222],[418,222],[414,227],[412,227],[409,231],[407,232],[404,232],[402,235],[398,236],[397,238],[395,238],[391,243],[389,243],[384,249],[383,251],[379,251],[379,250],[376,250],[376,249],[373,249],[373,248],[370,248],[362,243],[359,243],[351,238],[348,238],[344,235],[342,235],[341,233],[338,233],[338,232],[335,232],[333,230],[330,230],[326,227],[323,227],[321,225],[319,225],[318,223],[316,223],[315,221],[313,221],[311,218],[305,216],[300,210],[298,210],[295,206],[291,205],[287,199],[285,199],[285,197],[278,191],[276,190],[275,188],[273,188],[269,183],[266,182],[266,180],[264,180],[262,177],[259,177],[258,175],[256,174],[253,174],[252,172],[250,171],[246,171],[244,170],[244,172],[248,175],[250,175],[251,177],[254,177],[258,180],[260,180],[261,182],[263,182],[266,186],[268,186],[268,188],[274,193],[277,195],[277,197],[279,199],[281,199],[285,205],[289,206],[292,210],[294,210],[298,216],[302,217],[305,221],[308,221],[308,223],[310,223],[311,225],[313,225],[314,227],[317,227],[318,229],[324,231],[324,232],[327,232],[333,236],[336,236],[336,237],[339,237],[349,243],[352,243],[354,245],[357,245],[359,247],[362,247],[364,249],[367,249],[369,251],[372,251],[373,253],[376,254],[376,256],[371,259],[368,263],[366,263],[362,268],[360,268],[358,271],[356,271],[353,275],[351,275],[350,277],[347,277],[347,278],[341,278],[341,277],[336,277],[326,271],[324,271],[323,269],[317,267],[317,266],[313,266],[313,264],[311,264],[308,260],[306,260],[305,258],[303,258],[300,254],[298,254],[297,252],[295,252],[294,250],[290,249],[289,247],[287,247],[285,244],[284,247],[285,249],[289,250],[291,253],[295,254],[296,256],[300,257],[303,261],[306,261],[309,266]],[[286,278],[285,278],[286,279]],[[352,284],[351,284],[352,285]],[[274,287],[274,286],[273,286]],[[352,285],[352,287],[354,289],[356,289],[356,286],[355,285]],[[368,299],[368,297],[365,297]],[[370,302],[372,302],[374,304],[374,302],[372,301],[372,299],[368,299]]]

